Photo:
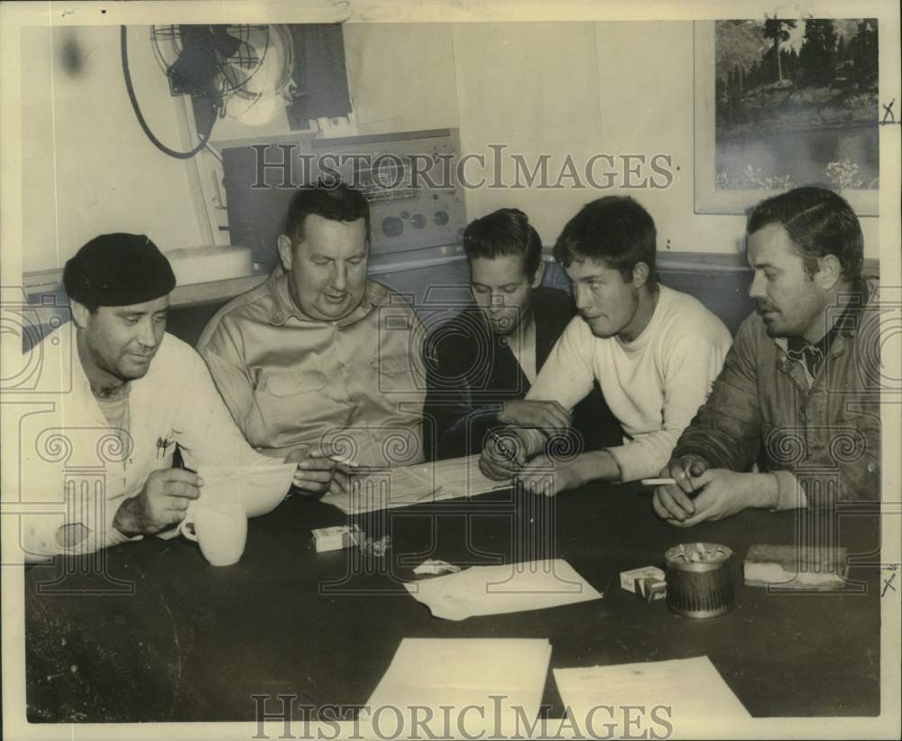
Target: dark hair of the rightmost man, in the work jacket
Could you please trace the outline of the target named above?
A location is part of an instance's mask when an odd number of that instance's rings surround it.
[[[809,278],[817,272],[817,259],[825,255],[840,261],[847,279],[861,276],[861,224],[851,206],[832,190],[796,188],[762,200],[751,210],[746,231],[752,235],[771,224],[786,229]]]

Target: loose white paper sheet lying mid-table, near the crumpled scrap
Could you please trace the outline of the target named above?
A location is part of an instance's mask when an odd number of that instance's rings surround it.
[[[602,597],[561,559],[474,566],[404,586],[434,617],[446,620],[538,610]]]

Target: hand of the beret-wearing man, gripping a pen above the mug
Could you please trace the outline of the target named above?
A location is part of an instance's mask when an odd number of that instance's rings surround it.
[[[204,481],[193,471],[161,468],[144,482],[141,494],[116,510],[113,527],[127,537],[155,535],[185,519],[185,510],[200,496]]]

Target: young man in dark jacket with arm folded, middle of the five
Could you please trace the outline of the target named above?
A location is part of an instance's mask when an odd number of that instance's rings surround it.
[[[426,457],[479,453],[493,429],[511,424],[547,431],[565,455],[621,440],[597,384],[572,416],[556,402],[523,399],[575,314],[568,293],[541,287],[542,243],[526,214],[502,208],[476,219],[464,248],[474,301],[426,343]]]

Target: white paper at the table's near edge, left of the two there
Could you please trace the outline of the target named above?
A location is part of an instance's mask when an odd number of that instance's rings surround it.
[[[405,638],[361,718],[373,737],[429,738],[411,718],[430,712],[431,737],[523,737],[538,717],[550,657],[545,639]],[[399,718],[405,732],[396,734]]]

